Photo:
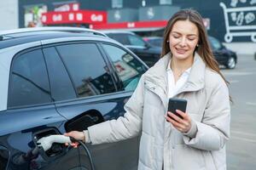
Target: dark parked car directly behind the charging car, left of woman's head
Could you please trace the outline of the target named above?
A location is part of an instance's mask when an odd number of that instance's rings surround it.
[[[160,59],[161,48],[145,42],[131,31],[103,31],[108,37],[122,43],[142,59],[149,67]]]

